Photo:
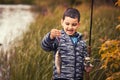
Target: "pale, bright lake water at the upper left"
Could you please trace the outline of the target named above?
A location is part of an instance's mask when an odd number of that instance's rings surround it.
[[[29,5],[0,5],[0,44],[8,45],[35,20]]]

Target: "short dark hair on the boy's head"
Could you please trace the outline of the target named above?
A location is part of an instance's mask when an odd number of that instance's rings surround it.
[[[63,20],[66,16],[71,18],[78,18],[78,22],[80,21],[80,12],[75,8],[67,8],[63,14]]]

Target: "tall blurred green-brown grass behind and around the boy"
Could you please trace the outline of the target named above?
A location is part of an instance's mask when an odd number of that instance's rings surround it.
[[[74,6],[81,11],[81,27],[79,32],[89,31],[90,10],[88,5]],[[23,33],[23,39],[13,44],[10,54],[10,80],[50,80],[52,77],[52,52],[45,52],[40,47],[43,36],[52,28],[61,29],[60,19],[65,7],[57,6],[54,10],[48,8],[47,14],[39,15],[29,30]],[[111,12],[112,11],[112,12]],[[118,24],[119,10],[110,6],[95,7],[92,30],[92,56],[98,58],[100,39],[119,39],[115,30]],[[86,38],[88,43],[88,36]],[[0,58],[1,60],[1,58]],[[4,62],[5,63],[5,62]],[[3,63],[1,63],[3,64]],[[101,63],[94,63],[91,80],[105,80],[105,70],[100,70]],[[98,66],[99,65],[99,66]],[[97,71],[97,73],[96,73]],[[100,75],[100,76],[98,76]]]

